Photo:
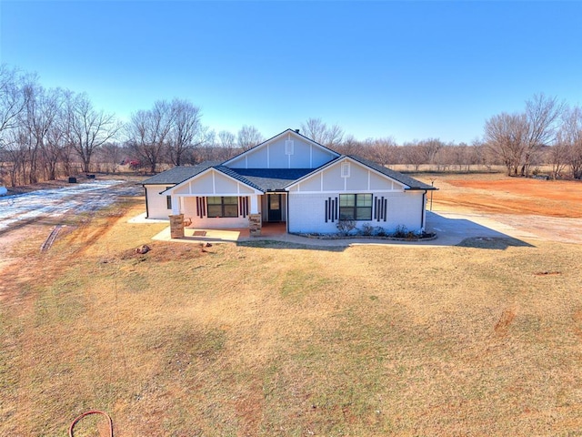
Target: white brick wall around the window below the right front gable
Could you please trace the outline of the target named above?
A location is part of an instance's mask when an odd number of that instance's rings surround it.
[[[392,193],[374,193],[374,197],[387,200],[387,217],[384,220],[358,220],[356,228],[362,229],[364,224],[381,227],[386,232],[393,232],[397,226],[406,226],[406,229],[419,231],[422,229],[424,191],[406,191]],[[289,210],[287,212],[287,226],[289,232],[333,234],[337,232],[337,220],[326,223],[326,200],[339,198],[340,193],[289,193]],[[374,214],[373,214],[374,217]]]

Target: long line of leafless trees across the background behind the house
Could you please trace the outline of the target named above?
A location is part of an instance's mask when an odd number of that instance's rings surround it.
[[[301,123],[300,133],[342,154],[415,171],[424,165],[437,171],[502,165],[508,175],[526,177],[546,164],[552,178],[582,178],[582,109],[544,95],[527,100],[522,112],[487,119],[483,137],[471,144],[358,140],[317,117]],[[151,174],[223,161],[264,140],[252,125],[216,132],[203,124],[200,107],[180,98],[158,100],[122,123],[95,108],[85,93],[45,88],[35,75],[0,66],[0,184],[115,172],[122,163]]]

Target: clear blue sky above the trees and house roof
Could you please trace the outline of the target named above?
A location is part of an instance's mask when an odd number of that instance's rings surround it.
[[[265,137],[470,142],[535,93],[582,104],[582,2],[0,2],[0,62],[127,120],[186,98]]]

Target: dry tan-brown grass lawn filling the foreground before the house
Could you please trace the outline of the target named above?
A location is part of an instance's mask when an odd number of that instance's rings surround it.
[[[0,246],[0,435],[582,435],[581,245],[203,249],[141,201]]]

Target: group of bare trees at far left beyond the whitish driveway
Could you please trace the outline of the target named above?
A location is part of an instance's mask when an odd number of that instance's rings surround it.
[[[11,185],[71,173],[73,162],[89,171],[95,151],[121,128],[85,94],[46,89],[37,78],[0,66],[0,176]]]

